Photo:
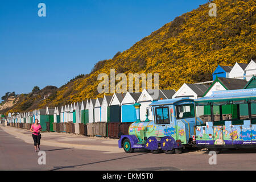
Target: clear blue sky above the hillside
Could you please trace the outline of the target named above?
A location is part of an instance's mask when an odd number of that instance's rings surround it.
[[[46,17],[38,4],[46,4]],[[0,96],[60,87],[206,0],[9,0],[0,4]]]

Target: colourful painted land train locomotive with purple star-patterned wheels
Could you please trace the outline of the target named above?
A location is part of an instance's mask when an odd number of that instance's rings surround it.
[[[129,135],[122,135],[119,148],[133,152],[135,148],[147,148],[152,153],[163,150],[166,154],[180,153],[181,148],[192,143],[196,126],[195,102],[189,98],[159,100],[150,104],[153,121],[140,121],[139,106],[137,121],[129,127]],[[198,123],[199,124],[199,123]]]

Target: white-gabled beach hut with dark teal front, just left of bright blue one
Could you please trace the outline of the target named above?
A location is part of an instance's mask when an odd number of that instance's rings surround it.
[[[121,102],[125,93],[114,93],[109,104],[110,122],[121,122]]]

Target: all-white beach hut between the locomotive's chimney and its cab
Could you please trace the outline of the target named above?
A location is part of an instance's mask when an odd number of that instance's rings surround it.
[[[166,96],[164,96],[163,92],[161,90],[156,89],[144,89],[141,93],[141,96],[138,98],[138,103],[141,104],[139,114],[141,116],[141,121],[145,121],[146,114],[148,115],[148,119],[152,120],[152,110],[151,102],[167,99]]]

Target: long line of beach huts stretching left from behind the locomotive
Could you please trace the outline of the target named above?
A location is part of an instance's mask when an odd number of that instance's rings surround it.
[[[155,94],[158,92],[158,94]],[[73,122],[134,122],[136,121],[135,103],[141,104],[141,119],[152,119],[152,112],[148,105],[158,100],[170,99],[175,90],[148,90],[141,93],[115,93],[104,98],[89,99],[61,107],[37,109],[27,113],[9,113],[10,122],[33,123],[38,119],[46,130],[46,122],[50,123],[50,130],[53,131],[52,123]]]

